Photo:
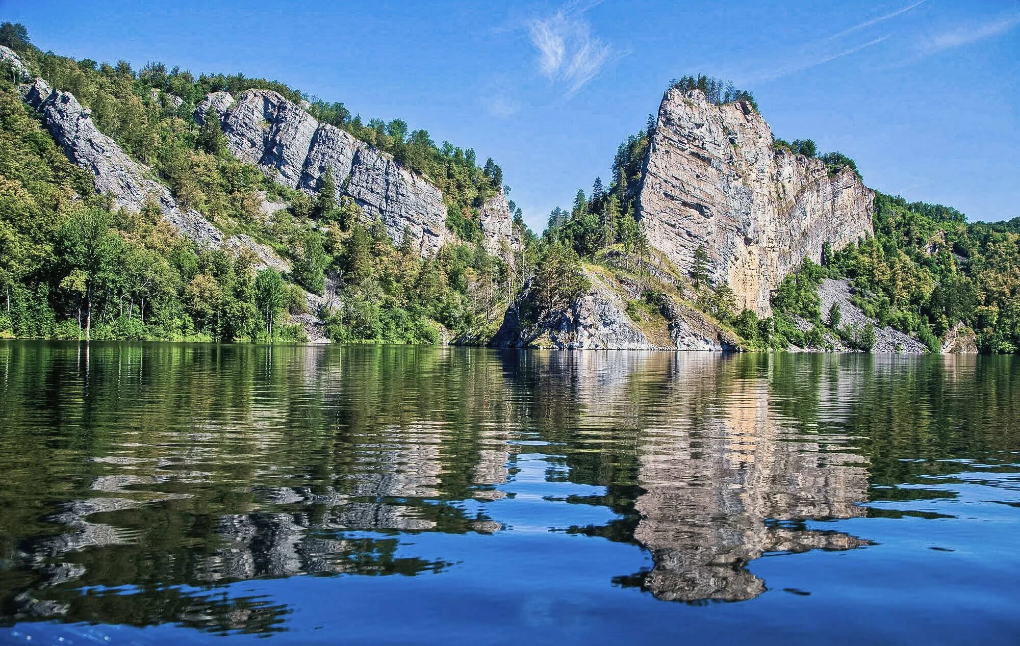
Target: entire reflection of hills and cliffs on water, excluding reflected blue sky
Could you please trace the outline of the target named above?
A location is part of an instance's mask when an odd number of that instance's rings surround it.
[[[925,409],[929,382],[973,372],[931,360],[2,344],[2,613],[278,630],[286,599],[208,586],[442,576],[462,555],[415,536],[512,537],[501,505],[527,456],[604,492],[561,495],[550,472],[544,498],[564,519],[550,530],[651,553],[650,570],[607,572],[607,585],[750,599],[765,582],[747,564],[763,553],[867,544],[804,522],[863,516],[876,470],[902,482],[919,468],[899,455],[1015,439],[926,434],[955,415]],[[1015,372],[987,407],[1015,392]],[[909,435],[875,417],[882,397],[906,406],[889,415],[923,414]],[[576,502],[611,520],[573,525]]]

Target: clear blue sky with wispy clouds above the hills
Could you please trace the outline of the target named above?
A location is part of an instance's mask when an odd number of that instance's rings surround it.
[[[402,118],[493,157],[537,230],[694,72],[870,186],[1020,215],[1020,0],[315,4],[0,0],[0,19],[76,58],[243,71]]]

